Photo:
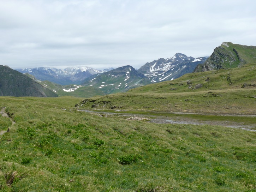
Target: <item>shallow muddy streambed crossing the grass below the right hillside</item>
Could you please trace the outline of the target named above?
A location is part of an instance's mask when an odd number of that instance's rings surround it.
[[[102,112],[102,111],[90,111],[90,110],[78,110],[81,112],[87,112],[87,113],[96,113],[100,116],[105,117],[117,117],[117,118],[124,118],[127,120],[143,120],[147,122],[154,122],[154,123],[160,123],[160,124],[192,124],[192,125],[220,125],[225,127],[231,127],[231,128],[240,128],[243,130],[248,131],[256,131],[253,130],[256,125],[245,125],[243,122],[235,122],[235,121],[225,121],[225,120],[198,120],[192,117],[183,116],[182,114],[189,115],[189,113],[169,113],[173,114],[166,116],[166,115],[147,115],[147,114],[134,114],[134,113],[118,113],[118,112]],[[175,115],[177,114],[177,115]],[[194,113],[194,115],[197,115]],[[206,115],[206,114],[198,114],[198,115]],[[219,115],[218,115],[219,116]],[[227,116],[227,115],[220,115],[221,116]],[[256,117],[256,115],[228,115],[228,116],[240,116],[243,118],[243,116],[248,117]]]

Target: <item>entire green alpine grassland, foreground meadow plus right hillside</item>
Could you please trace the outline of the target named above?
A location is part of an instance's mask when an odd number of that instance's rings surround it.
[[[255,74],[244,64],[93,98],[1,96],[0,191],[253,192]]]

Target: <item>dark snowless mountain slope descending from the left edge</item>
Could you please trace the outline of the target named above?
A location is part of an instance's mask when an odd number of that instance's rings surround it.
[[[0,96],[58,97],[24,74],[0,65]]]

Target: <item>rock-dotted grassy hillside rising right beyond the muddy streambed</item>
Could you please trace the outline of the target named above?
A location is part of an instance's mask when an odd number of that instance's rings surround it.
[[[147,112],[251,114],[256,111],[256,65],[189,73],[126,93],[85,99],[79,108]]]

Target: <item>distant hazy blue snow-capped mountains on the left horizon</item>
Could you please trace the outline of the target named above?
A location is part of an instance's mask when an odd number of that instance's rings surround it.
[[[36,67],[16,70],[21,73],[29,73],[38,80],[48,80],[60,85],[80,84],[93,74],[105,72],[91,67],[68,67],[64,70],[51,67]]]

